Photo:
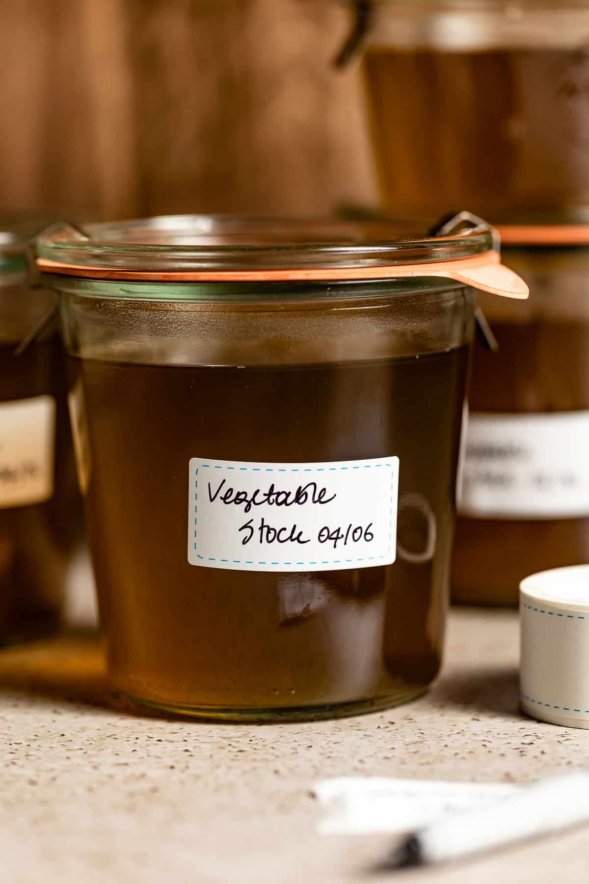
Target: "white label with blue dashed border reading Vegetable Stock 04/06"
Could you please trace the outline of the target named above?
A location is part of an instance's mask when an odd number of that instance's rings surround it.
[[[190,461],[188,561],[236,571],[389,565],[398,457],[324,463]]]

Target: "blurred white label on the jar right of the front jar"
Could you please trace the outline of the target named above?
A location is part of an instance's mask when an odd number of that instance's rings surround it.
[[[471,413],[458,513],[489,519],[589,516],[589,411]]]

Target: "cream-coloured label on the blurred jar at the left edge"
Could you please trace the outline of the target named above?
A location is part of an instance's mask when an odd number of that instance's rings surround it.
[[[55,432],[52,396],[0,403],[0,508],[52,496]]]

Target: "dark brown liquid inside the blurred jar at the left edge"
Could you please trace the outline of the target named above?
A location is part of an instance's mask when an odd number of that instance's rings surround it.
[[[34,343],[19,357],[16,344],[0,347],[0,402],[55,397],[55,492],[44,503],[0,508],[0,644],[57,626],[65,569],[82,524],[59,341]]]

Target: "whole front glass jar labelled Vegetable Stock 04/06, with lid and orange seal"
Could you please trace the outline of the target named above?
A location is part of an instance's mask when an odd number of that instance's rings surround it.
[[[312,719],[437,674],[471,286],[525,286],[486,229],[402,233],[160,217],[37,241],[133,700]]]

